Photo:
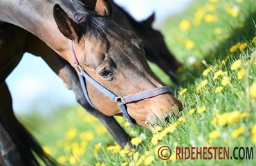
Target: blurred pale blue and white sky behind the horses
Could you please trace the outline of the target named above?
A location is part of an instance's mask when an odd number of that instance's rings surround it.
[[[189,1],[116,0],[136,20],[156,14],[154,27],[159,27],[166,17],[182,11]],[[22,114],[36,108],[53,112],[58,105],[76,103],[73,91],[67,90],[63,81],[39,57],[24,54],[21,62],[7,78],[15,113]],[[2,96],[1,96],[2,97]]]

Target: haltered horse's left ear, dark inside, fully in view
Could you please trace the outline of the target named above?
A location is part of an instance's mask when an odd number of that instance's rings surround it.
[[[72,41],[78,42],[81,36],[80,25],[68,17],[68,14],[58,4],[53,7],[53,17],[60,32]]]

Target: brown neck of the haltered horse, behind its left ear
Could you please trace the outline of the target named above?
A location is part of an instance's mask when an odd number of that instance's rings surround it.
[[[58,30],[50,1],[1,1],[0,21],[12,23],[42,39],[67,59],[68,39]],[[61,4],[61,1],[57,1]]]

